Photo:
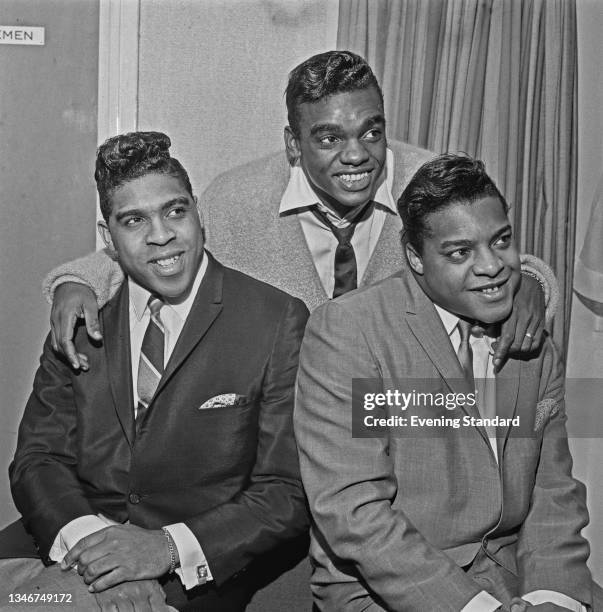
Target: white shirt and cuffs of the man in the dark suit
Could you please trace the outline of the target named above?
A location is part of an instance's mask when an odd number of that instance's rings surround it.
[[[186,319],[190,313],[197,291],[207,270],[207,255],[204,254],[193,282],[193,287],[188,297],[180,304],[170,304],[166,301],[160,312],[161,321],[165,328],[164,342],[164,363],[167,364],[180,332],[184,327]],[[140,351],[142,341],[149,323],[150,311],[147,306],[149,291],[137,285],[131,278],[128,278],[128,290],[130,297],[130,351],[132,355],[132,380],[138,380],[138,364],[140,361]],[[136,406],[138,404],[138,393],[136,384],[134,389],[134,413],[136,416]],[[86,537],[109,525],[117,525],[115,521],[99,514],[80,516],[65,525],[57,534],[51,550],[50,558],[53,561],[62,561],[67,552],[83,537]],[[180,558],[180,567],[176,573],[180,576],[186,589],[191,589],[199,584],[198,569],[204,568],[207,573],[206,580],[212,580],[211,571],[207,565],[207,559],[203,554],[201,545],[193,532],[184,523],[166,525]],[[203,580],[205,582],[206,580]]]

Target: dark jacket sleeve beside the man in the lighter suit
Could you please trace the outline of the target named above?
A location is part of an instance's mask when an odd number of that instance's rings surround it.
[[[293,437],[295,376],[307,317],[306,307],[295,298],[282,313],[264,372],[257,455],[247,488],[185,521],[218,585],[309,527]]]

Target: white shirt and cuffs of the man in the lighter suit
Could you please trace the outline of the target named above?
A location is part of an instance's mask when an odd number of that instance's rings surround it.
[[[459,318],[451,312],[440,308],[437,304],[434,304],[434,306],[444,324],[446,333],[452,343],[452,348],[456,353],[461,343],[461,335],[458,329]],[[477,397],[480,414],[482,416],[488,415],[492,417],[496,415],[496,377],[494,374],[494,365],[492,363],[492,356],[494,354],[492,343],[494,341],[495,338],[490,338],[485,334],[482,336],[474,336],[472,334],[469,340],[473,352],[473,376],[476,381],[476,386],[478,387]],[[480,406],[480,398],[482,402],[490,403],[490,406]],[[489,435],[488,439],[490,440],[490,446],[492,447],[494,457],[498,462],[496,435]],[[563,606],[568,610],[573,610],[573,612],[586,612],[586,607],[580,602],[563,593],[558,593],[557,591],[547,591],[543,589],[532,591],[521,597],[533,605],[550,602]],[[490,595],[490,593],[481,591],[467,603],[461,612],[494,612],[500,605],[501,602]]]

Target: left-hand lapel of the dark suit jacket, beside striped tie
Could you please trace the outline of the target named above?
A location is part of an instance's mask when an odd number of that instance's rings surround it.
[[[134,392],[130,356],[130,315],[128,283],[123,282],[117,295],[101,313],[101,324],[109,386],[117,418],[128,444],[134,440]]]

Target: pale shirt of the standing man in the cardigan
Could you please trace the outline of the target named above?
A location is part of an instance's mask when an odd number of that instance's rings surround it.
[[[398,214],[392,196],[393,176],[394,154],[388,149],[385,167],[379,177],[379,186],[373,198],[375,205],[371,207],[369,214],[358,222],[351,240],[356,256],[358,284],[364,276],[371,255],[379,241],[385,218],[387,215],[397,216]],[[312,213],[312,207],[318,207],[325,212],[336,227],[347,227],[359,212],[359,210],[351,210],[344,217],[340,217],[322,204],[298,162],[291,166],[289,183],[281,198],[279,214],[297,211],[320,282],[326,294],[332,296],[335,289],[335,250],[338,242],[333,232]]]

